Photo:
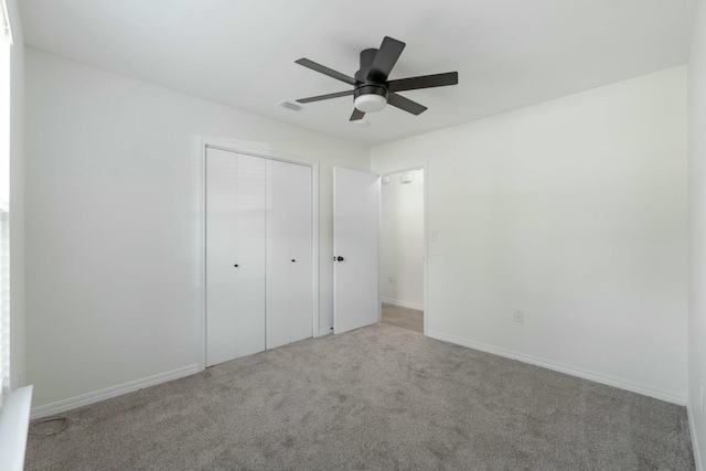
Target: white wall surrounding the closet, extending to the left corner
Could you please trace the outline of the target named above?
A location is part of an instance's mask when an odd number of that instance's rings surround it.
[[[332,325],[332,165],[368,170],[367,149],[31,49],[25,58],[35,406],[197,363],[194,135],[320,161],[320,312]]]

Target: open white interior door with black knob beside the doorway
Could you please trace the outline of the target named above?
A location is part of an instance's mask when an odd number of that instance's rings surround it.
[[[379,176],[333,169],[333,332],[379,322]]]

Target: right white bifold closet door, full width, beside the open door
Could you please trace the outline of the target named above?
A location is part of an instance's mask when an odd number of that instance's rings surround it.
[[[267,349],[312,334],[311,168],[268,161]]]

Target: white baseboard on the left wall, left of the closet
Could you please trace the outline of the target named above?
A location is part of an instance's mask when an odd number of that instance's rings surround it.
[[[111,397],[132,393],[157,384],[167,383],[168,381],[179,379],[184,376],[191,376],[201,371],[199,365],[184,366],[183,368],[172,370],[171,372],[160,373],[141,379],[131,381],[129,383],[119,384],[117,386],[107,387],[105,389],[95,390],[93,393],[82,394],[81,396],[71,397],[68,399],[58,400],[56,403],[46,404],[44,406],[34,407],[30,418],[53,416],[76,407],[87,406]]]

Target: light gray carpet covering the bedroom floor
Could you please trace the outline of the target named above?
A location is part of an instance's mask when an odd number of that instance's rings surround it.
[[[28,470],[694,469],[684,407],[384,323],[67,416]]]

